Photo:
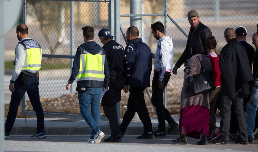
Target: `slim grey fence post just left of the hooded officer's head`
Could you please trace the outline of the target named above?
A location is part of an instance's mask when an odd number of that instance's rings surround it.
[[[70,55],[73,55],[73,47],[74,47],[74,12],[73,12],[73,2],[70,2]],[[70,59],[70,68],[71,68],[71,74],[72,74],[72,68],[73,68],[73,59]],[[73,93],[73,87],[75,83],[71,86],[71,93]]]

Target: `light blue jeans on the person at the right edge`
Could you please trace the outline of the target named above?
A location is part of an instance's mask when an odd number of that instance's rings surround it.
[[[258,81],[252,86],[252,93],[249,102],[246,105],[246,124],[248,137],[254,138],[255,116],[258,108]]]

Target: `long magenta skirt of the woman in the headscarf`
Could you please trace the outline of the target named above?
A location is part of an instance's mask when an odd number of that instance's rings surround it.
[[[187,136],[200,139],[200,134],[209,136],[210,109],[201,105],[180,109],[179,130]]]

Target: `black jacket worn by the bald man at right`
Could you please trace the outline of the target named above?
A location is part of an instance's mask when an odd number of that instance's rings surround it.
[[[249,61],[245,53],[245,48],[237,42],[236,38],[222,48],[219,57],[219,66],[221,71],[221,85],[226,88],[229,98],[235,99],[238,92],[244,84],[254,84],[254,78],[250,69]]]

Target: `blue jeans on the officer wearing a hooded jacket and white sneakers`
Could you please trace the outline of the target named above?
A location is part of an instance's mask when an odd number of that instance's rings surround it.
[[[91,127],[91,137],[100,130],[100,95],[102,88],[88,88],[86,92],[79,92],[78,99],[81,115]],[[91,114],[90,114],[91,106]]]

